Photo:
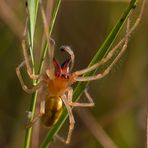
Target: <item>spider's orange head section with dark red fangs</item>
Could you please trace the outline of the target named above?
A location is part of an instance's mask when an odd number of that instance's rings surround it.
[[[63,64],[54,58],[54,79],[49,79],[46,74],[46,83],[51,96],[61,96],[66,89],[74,82],[74,75],[70,73],[71,60],[67,59]]]

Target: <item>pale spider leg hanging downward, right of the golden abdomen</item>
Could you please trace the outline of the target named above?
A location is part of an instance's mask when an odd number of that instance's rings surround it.
[[[67,135],[67,138],[66,140],[63,140],[66,144],[69,144],[70,143],[70,140],[71,140],[71,135],[72,135],[72,132],[73,132],[73,129],[74,129],[74,125],[75,125],[75,120],[74,120],[74,116],[73,116],[73,113],[72,113],[72,108],[71,106],[69,105],[69,102],[68,102],[68,99],[66,98],[66,96],[62,96],[61,97],[66,108],[67,108],[67,111],[68,111],[68,115],[69,115],[69,131],[68,131],[68,135]]]

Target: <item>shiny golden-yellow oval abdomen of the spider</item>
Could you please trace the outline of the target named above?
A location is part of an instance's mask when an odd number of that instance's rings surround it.
[[[59,97],[48,97],[45,100],[45,113],[41,117],[42,123],[51,127],[57,122],[62,111],[62,100]]]

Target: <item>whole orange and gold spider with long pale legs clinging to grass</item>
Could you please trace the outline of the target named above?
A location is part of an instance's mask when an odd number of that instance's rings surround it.
[[[143,4],[144,5],[144,4]],[[41,119],[43,125],[46,127],[52,127],[59,119],[62,111],[63,111],[63,104],[65,105],[68,115],[69,115],[69,131],[67,138],[64,140],[66,144],[68,144],[71,140],[72,131],[74,129],[74,116],[72,113],[73,107],[93,107],[94,102],[87,92],[85,90],[86,98],[88,99],[88,103],[79,103],[79,102],[73,102],[73,89],[71,85],[78,81],[92,81],[92,80],[98,80],[103,77],[105,77],[109,72],[111,71],[114,64],[120,59],[122,54],[124,53],[125,49],[127,48],[128,44],[128,38],[131,35],[131,33],[135,30],[137,25],[139,24],[139,21],[141,19],[143,7],[141,8],[141,12],[139,17],[137,18],[134,25],[130,28],[129,25],[129,19],[127,21],[127,29],[125,36],[119,41],[119,43],[112,48],[108,54],[104,56],[104,58],[101,61],[98,61],[96,64],[87,67],[82,70],[78,70],[75,72],[72,72],[72,68],[74,66],[75,61],[75,55],[72,51],[72,49],[69,46],[62,46],[61,51],[65,51],[70,55],[70,58],[66,59],[65,62],[63,62],[61,65],[59,64],[58,60],[54,57],[54,49],[55,49],[55,43],[54,40],[51,39],[48,35],[48,23],[46,20],[46,15],[42,6],[42,1],[40,1],[40,10],[42,14],[43,19],[43,26],[44,26],[44,32],[46,35],[48,48],[49,50],[49,65],[46,68],[45,72],[43,72],[40,75],[33,74],[29,62],[29,56],[27,54],[27,46],[26,46],[26,34],[27,34],[27,25],[28,25],[28,17],[26,19],[26,25],[23,32],[23,40],[22,40],[22,49],[23,49],[23,55],[24,55],[24,61],[16,68],[16,73],[19,78],[19,81],[21,83],[21,86],[24,91],[27,93],[33,93],[36,90],[45,87],[44,91],[46,91],[46,96],[41,100],[40,102],[40,111],[39,115],[34,117],[34,119],[30,122],[30,126],[37,120]],[[118,54],[115,55],[116,50],[121,47]],[[88,72],[96,70],[98,67],[106,64],[108,61],[110,61],[113,58],[110,65],[102,72],[98,73],[93,76],[83,76],[83,74],[86,74]],[[21,76],[20,69],[26,66],[27,73],[33,80],[39,80],[39,83],[32,88],[28,88]]]

